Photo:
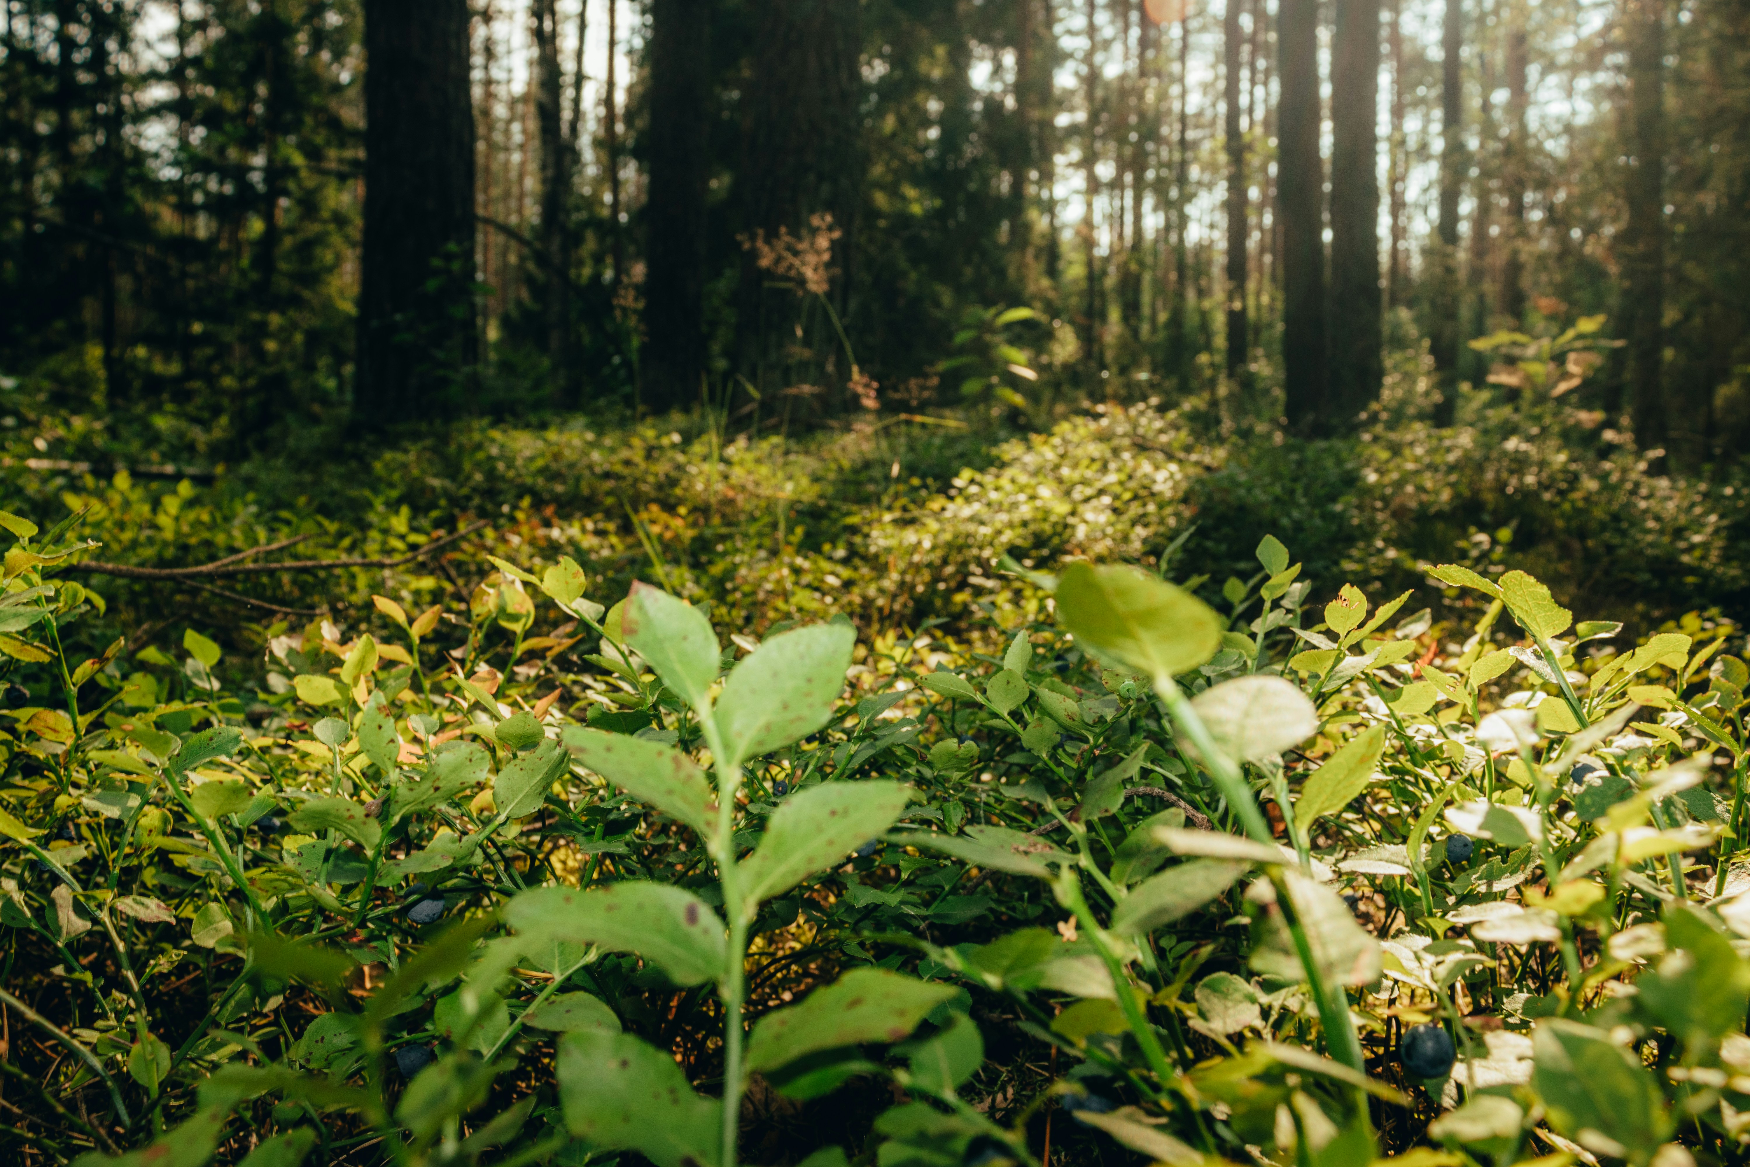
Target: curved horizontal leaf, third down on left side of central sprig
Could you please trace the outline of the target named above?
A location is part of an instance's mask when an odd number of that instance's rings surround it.
[[[682,887],[625,880],[590,891],[537,887],[504,908],[525,943],[569,940],[635,952],[677,985],[718,980],[724,971],[724,927],[704,899]]]

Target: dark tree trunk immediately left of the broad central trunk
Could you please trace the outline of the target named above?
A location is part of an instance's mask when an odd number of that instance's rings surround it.
[[[705,373],[710,7],[651,5],[642,401],[653,409],[698,401]]]

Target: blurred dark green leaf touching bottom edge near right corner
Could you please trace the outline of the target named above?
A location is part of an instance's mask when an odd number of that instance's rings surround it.
[[[1659,1081],[1605,1031],[1547,1018],[1531,1034],[1531,1088],[1559,1134],[1634,1164],[1647,1164],[1664,1143],[1670,1120]]]

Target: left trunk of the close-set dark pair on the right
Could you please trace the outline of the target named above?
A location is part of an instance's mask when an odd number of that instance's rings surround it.
[[[1283,219],[1283,390],[1290,429],[1328,429],[1325,164],[1320,157],[1318,0],[1278,9],[1278,203]]]

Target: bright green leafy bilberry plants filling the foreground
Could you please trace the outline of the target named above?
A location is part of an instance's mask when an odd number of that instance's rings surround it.
[[[1743,1155],[1729,621],[1267,537],[714,628],[500,534],[250,660],[0,518],[16,1162]]]

